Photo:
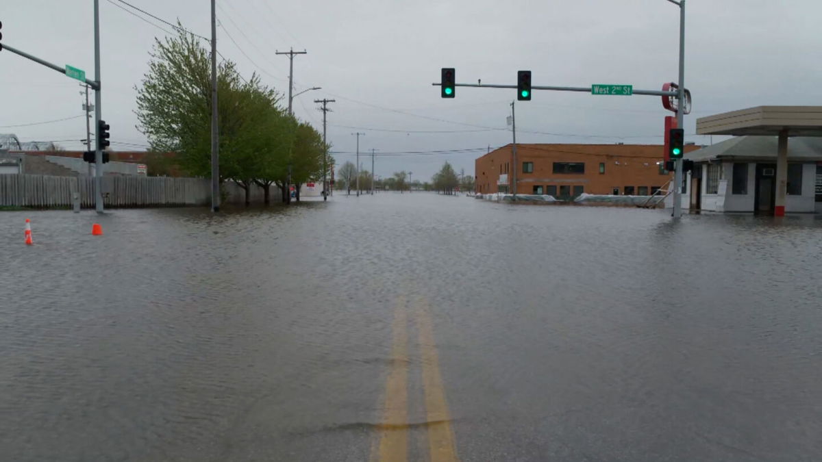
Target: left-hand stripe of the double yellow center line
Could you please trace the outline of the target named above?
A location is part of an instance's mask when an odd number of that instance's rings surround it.
[[[372,460],[404,462],[408,460],[408,314],[404,297],[397,300],[394,313],[394,344],[391,347],[391,370],[386,381],[385,411],[380,430],[380,446]],[[376,457],[375,457],[376,456]]]

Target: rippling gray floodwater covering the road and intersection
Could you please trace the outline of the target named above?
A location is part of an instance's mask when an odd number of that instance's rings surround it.
[[[822,460],[814,216],[338,194],[0,255],[0,460]]]

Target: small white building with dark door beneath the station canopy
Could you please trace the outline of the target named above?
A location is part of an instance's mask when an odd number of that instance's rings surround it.
[[[774,215],[777,150],[778,136],[736,136],[686,154],[695,167],[683,207]],[[784,206],[786,213],[822,213],[822,138],[790,139]]]

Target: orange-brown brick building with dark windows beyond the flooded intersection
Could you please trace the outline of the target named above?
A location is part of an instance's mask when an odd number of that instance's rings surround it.
[[[699,149],[686,146],[686,152]],[[662,145],[517,144],[517,194],[557,198],[589,194],[644,196],[673,177],[662,163]],[[659,163],[659,164],[658,164]],[[475,161],[476,192],[511,192],[511,145]]]

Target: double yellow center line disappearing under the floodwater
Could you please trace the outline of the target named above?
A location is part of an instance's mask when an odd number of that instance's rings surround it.
[[[372,460],[404,462],[408,460],[408,310],[407,300],[400,297],[392,326],[394,343],[391,347],[391,369],[386,381],[386,400],[382,423],[379,426],[380,444],[372,452]],[[428,448],[432,462],[457,462],[454,431],[451,428],[445,387],[442,383],[439,355],[436,352],[434,329],[427,302],[416,303],[417,330],[423,389],[425,393]]]

